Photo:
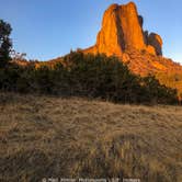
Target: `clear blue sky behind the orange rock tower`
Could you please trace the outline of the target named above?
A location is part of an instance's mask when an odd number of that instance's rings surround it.
[[[47,60],[95,43],[104,10],[128,0],[0,0],[16,52]],[[163,55],[182,62],[182,1],[134,0],[145,29],[163,38]]]

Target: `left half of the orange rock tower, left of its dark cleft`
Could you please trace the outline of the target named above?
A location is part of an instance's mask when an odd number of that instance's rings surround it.
[[[95,46],[86,49],[86,53],[104,53],[107,56],[122,56],[124,42],[123,30],[120,26],[118,5],[112,4],[104,13],[102,29],[98,34]]]

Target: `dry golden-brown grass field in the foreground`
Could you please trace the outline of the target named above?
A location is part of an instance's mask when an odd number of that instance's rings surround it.
[[[182,107],[0,93],[0,182],[182,181]]]

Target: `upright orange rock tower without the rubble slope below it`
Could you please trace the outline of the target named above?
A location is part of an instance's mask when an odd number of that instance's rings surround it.
[[[96,44],[84,53],[104,53],[122,57],[126,50],[146,50],[162,55],[162,39],[159,35],[143,30],[143,16],[138,15],[134,2],[124,5],[112,4],[104,13],[102,29]]]

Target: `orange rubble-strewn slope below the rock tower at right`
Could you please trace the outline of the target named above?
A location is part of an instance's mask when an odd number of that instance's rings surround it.
[[[153,75],[161,84],[177,89],[182,100],[182,66],[180,64],[146,52],[128,50],[127,55],[124,61],[134,73],[141,77]]]

